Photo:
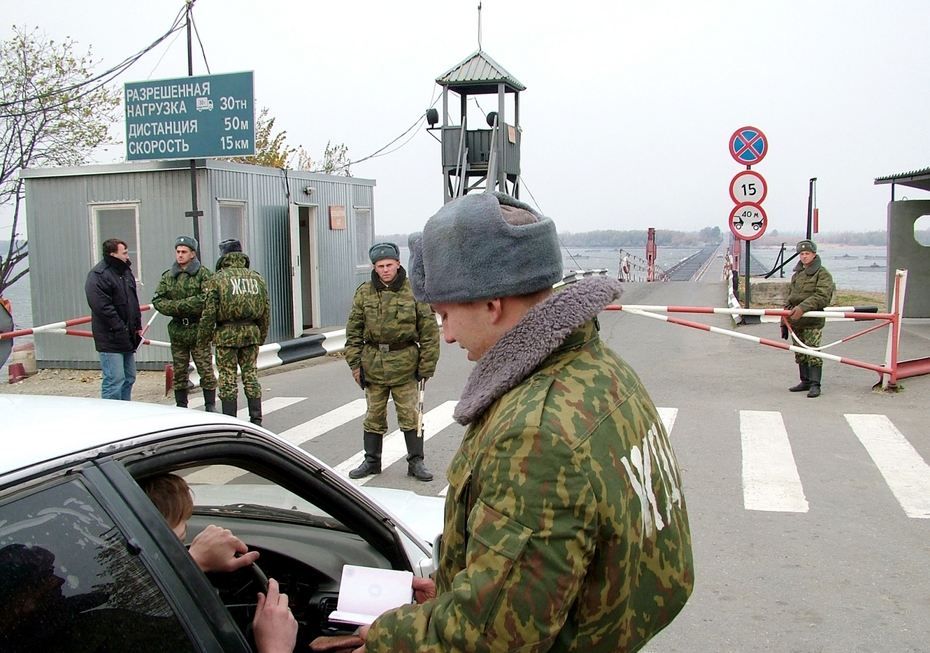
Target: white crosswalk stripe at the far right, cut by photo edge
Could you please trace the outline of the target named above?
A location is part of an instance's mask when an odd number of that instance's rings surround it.
[[[885,415],[844,415],[908,517],[930,518],[930,467]]]

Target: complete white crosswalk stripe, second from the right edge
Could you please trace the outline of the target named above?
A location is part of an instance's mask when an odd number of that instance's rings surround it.
[[[777,411],[741,410],[743,506],[746,510],[807,512],[788,432]]]

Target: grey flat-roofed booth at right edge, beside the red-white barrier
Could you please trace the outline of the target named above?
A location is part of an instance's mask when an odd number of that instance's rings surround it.
[[[885,285],[889,310],[894,291],[894,271],[907,270],[908,283],[904,298],[903,317],[930,317],[930,247],[917,242],[914,228],[917,220],[930,216],[930,199],[895,198],[895,188],[906,186],[930,191],[930,168],[903,172],[875,179],[875,185],[891,185],[888,203],[888,278]],[[924,229],[928,226],[924,226]],[[915,283],[921,280],[921,282]]]

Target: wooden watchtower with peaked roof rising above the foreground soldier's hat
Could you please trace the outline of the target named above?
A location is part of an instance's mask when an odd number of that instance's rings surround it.
[[[513,75],[480,48],[436,79],[442,86],[442,175],[449,202],[473,190],[501,190],[520,196],[520,91]],[[458,123],[450,115],[449,93],[459,96]],[[469,129],[470,96],[497,94],[497,110],[487,116],[489,129]],[[508,103],[507,95],[512,102]],[[454,101],[454,100],[453,100]],[[475,102],[477,105],[477,102]],[[507,118],[511,106],[513,123]],[[427,112],[430,129],[439,122],[436,109]]]

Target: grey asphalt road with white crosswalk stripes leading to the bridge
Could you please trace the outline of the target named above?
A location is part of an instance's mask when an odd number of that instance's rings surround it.
[[[622,303],[725,305],[717,266],[705,276],[710,282],[630,284]],[[732,326],[727,316],[682,317]],[[790,353],[620,311],[600,322],[671,426],[691,520],[694,594],[646,651],[930,651],[930,492],[921,496],[930,487],[930,377],[906,379],[895,394],[876,392],[877,374],[828,362],[823,395],[808,399],[787,391],[797,382]],[[824,340],[862,328],[830,323]],[[776,324],[739,331],[778,338]],[[880,363],[886,334],[830,351]],[[901,346],[904,358],[930,355],[930,340],[909,331]],[[457,345],[444,345],[427,385],[426,462],[436,480],[407,477],[398,449],[398,461],[369,483],[443,492],[464,432],[449,414],[471,367]],[[282,406],[266,409],[266,427],[337,469],[354,466],[362,428],[353,415],[363,396],[344,360],[262,383],[266,405]],[[760,423],[768,426],[759,431]],[[888,440],[910,458],[883,454]],[[763,478],[753,477],[753,461]],[[784,478],[766,476],[775,472]]]

